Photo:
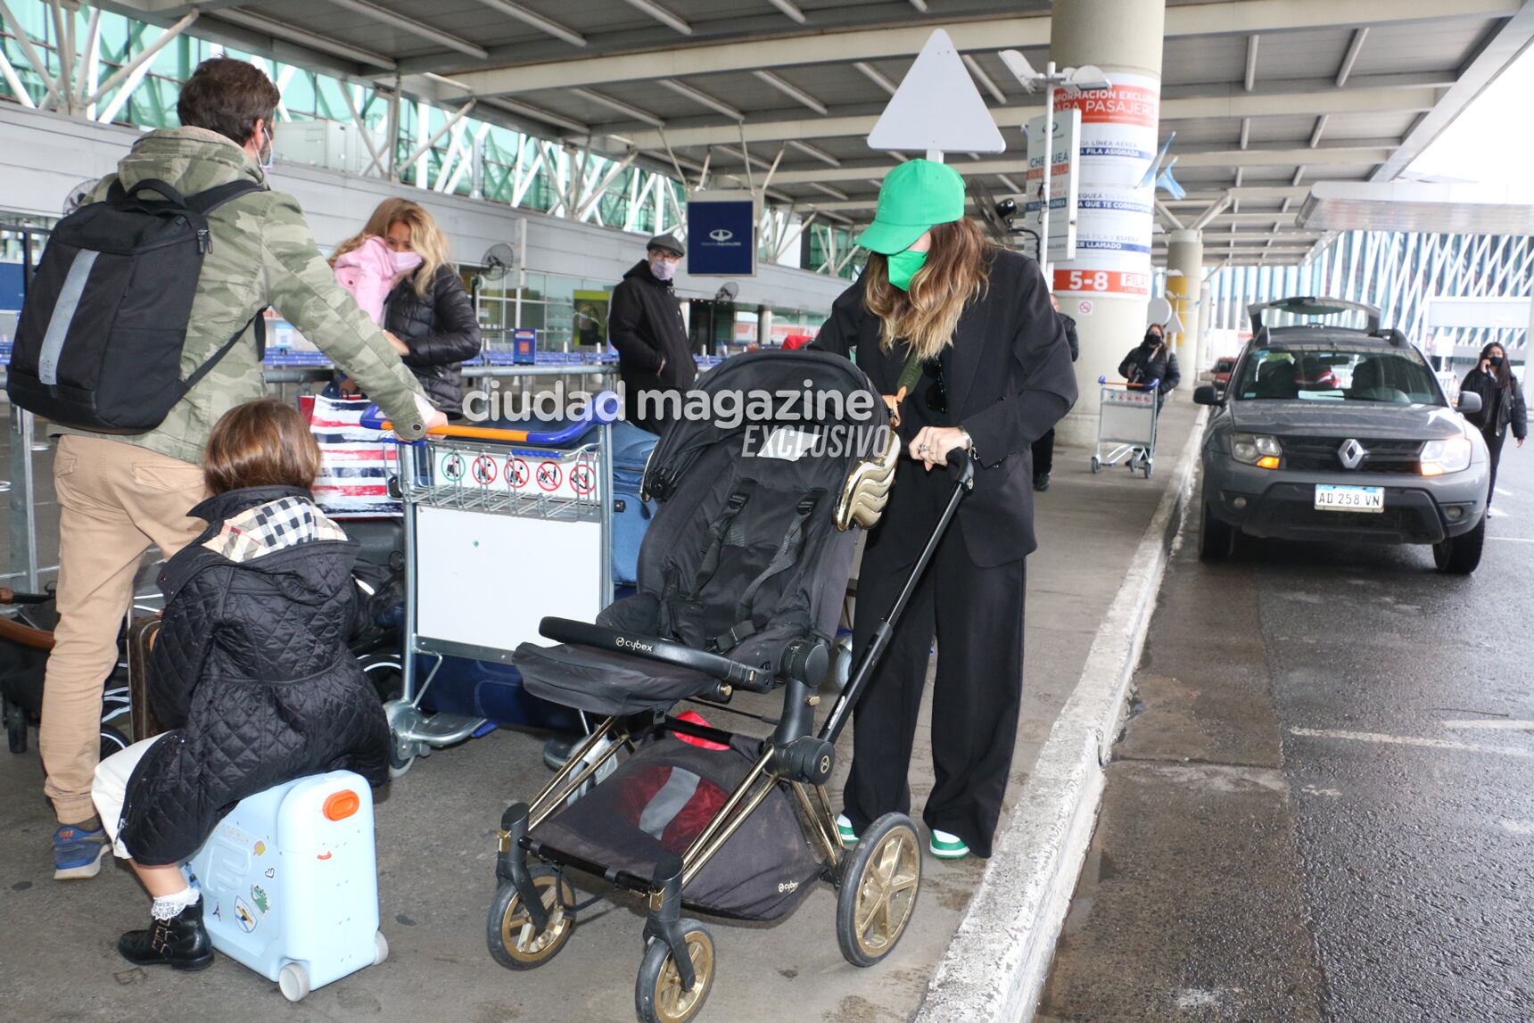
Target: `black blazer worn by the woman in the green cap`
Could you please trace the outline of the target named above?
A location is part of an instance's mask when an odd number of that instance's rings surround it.
[[[894,394],[905,356],[900,345],[890,353],[881,350],[879,321],[864,308],[862,296],[862,279],[842,291],[811,347],[856,353],[858,367],[879,393]],[[982,466],[974,491],[959,506],[965,548],[982,567],[1017,561],[1037,546],[1032,443],[1071,411],[1077,396],[1065,325],[1049,305],[1039,264],[1011,250],[994,250],[989,288],[959,317],[950,365],[948,411],[969,431]],[[900,433],[910,445],[910,417]],[[919,551],[933,521],[900,494],[916,486],[917,474],[925,469],[902,459],[879,531],[896,532],[904,537],[897,546],[916,544]]]

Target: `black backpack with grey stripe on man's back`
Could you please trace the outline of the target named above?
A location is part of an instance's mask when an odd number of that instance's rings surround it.
[[[114,181],[106,201],[58,221],[26,288],[6,382],[11,402],[103,434],[163,423],[250,328],[181,379],[192,299],[212,244],[207,215],[262,189],[232,181],[183,198],[153,178],[132,189]],[[264,347],[262,311],[252,322]]]

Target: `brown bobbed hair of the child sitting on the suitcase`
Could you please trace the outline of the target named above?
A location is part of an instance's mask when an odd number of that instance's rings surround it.
[[[314,486],[319,445],[308,422],[275,397],[224,413],[207,437],[202,479],[210,494],[247,486]]]

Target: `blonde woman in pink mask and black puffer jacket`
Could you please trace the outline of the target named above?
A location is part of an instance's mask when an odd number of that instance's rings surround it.
[[[331,256],[382,238],[400,270],[384,304],[384,334],[420,380],[426,397],[449,417],[463,414],[460,363],[480,353],[479,321],[459,271],[448,262],[448,239],[419,202],[384,199],[362,233]]]

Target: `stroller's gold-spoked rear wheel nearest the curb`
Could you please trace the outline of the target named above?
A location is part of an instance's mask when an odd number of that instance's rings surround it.
[[[836,897],[836,940],[847,962],[873,966],[894,949],[920,885],[916,825],[900,813],[879,817],[848,854]]]

